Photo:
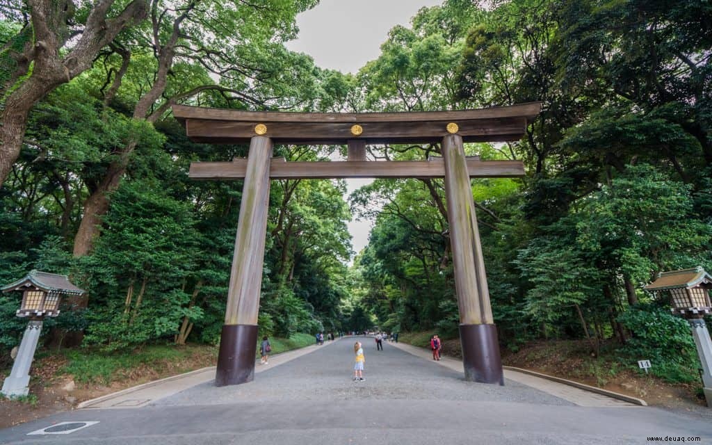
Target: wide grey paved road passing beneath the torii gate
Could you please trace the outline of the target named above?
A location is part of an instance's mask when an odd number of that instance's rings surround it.
[[[578,407],[507,381],[464,382],[431,360],[364,339],[365,382],[352,382],[352,341],[320,347],[254,382],[199,384],[137,409],[91,409],[0,431],[9,444],[644,444],[700,436],[708,419],[650,407]],[[58,422],[71,434],[28,436]]]

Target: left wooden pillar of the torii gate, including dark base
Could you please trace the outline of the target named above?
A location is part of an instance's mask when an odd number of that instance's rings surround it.
[[[219,387],[251,382],[255,376],[271,157],[272,140],[252,137],[218,352],[215,385]]]

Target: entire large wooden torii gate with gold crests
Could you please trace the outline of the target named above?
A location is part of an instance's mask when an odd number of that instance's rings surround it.
[[[189,176],[194,179],[244,179],[216,386],[250,382],[254,377],[270,179],[360,177],[445,179],[465,379],[503,384],[470,178],[519,177],[524,167],[520,161],[468,159],[463,142],[519,140],[540,108],[540,103],[525,103],[461,111],[300,113],[174,105],[173,114],[191,140],[250,144],[247,159],[190,166]],[[441,158],[366,160],[367,144],[433,142],[441,142]],[[274,144],[348,145],[348,160],[272,159]]]

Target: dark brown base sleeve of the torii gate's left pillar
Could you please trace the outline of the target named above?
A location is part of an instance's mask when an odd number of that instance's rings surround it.
[[[251,382],[256,352],[257,325],[223,325],[215,386]]]

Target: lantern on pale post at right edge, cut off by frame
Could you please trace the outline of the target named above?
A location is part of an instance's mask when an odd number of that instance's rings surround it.
[[[644,289],[669,298],[672,312],[690,323],[697,354],[702,364],[702,383],[707,406],[712,407],[712,340],[703,317],[712,313],[709,290],[712,276],[701,267],[661,272]]]

